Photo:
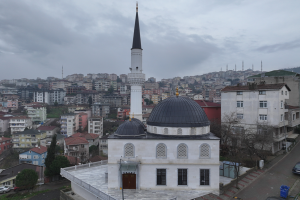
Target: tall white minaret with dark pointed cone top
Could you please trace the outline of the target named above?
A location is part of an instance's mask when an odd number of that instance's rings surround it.
[[[141,111],[141,86],[145,82],[145,74],[142,73],[142,48],[139,34],[138,14],[137,14],[137,2],[136,2],[136,14],[135,24],[133,32],[133,41],[131,48],[131,67],[129,67],[130,73],[128,73],[127,80],[131,86],[130,90],[130,113],[134,113],[135,117],[142,121]]]

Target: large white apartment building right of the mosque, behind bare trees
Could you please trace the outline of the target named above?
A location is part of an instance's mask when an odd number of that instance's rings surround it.
[[[284,125],[287,126],[286,137],[293,133],[293,126],[299,124],[299,108],[285,108],[290,88],[286,83],[250,84],[226,86],[221,90],[221,118],[226,113],[235,112],[241,123],[236,128],[246,128],[261,122],[274,126],[272,152],[281,149],[284,140]],[[291,120],[290,120],[291,119]],[[263,130],[257,129],[258,134]]]

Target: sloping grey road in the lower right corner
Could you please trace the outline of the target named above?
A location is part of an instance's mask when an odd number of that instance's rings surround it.
[[[291,188],[300,179],[299,175],[291,172],[295,163],[300,161],[299,152],[300,145],[298,142],[281,160],[271,166],[247,187],[236,193],[235,196],[243,200],[262,200],[268,196],[280,196],[280,186],[282,184]],[[299,184],[294,187],[293,193],[295,191],[300,191]]]

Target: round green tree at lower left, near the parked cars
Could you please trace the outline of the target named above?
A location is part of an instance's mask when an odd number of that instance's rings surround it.
[[[38,175],[33,169],[23,169],[15,177],[15,186],[29,189],[37,183]]]

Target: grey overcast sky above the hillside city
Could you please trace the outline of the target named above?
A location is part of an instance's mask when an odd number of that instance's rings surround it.
[[[134,0],[1,0],[0,79],[129,73]],[[146,78],[300,66],[299,0],[139,0]]]

